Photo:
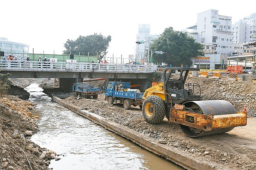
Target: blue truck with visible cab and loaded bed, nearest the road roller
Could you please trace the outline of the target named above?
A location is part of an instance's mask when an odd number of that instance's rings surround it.
[[[130,82],[108,82],[105,88],[105,100],[108,104],[120,103],[127,110],[131,105],[142,108],[143,94],[140,89],[131,89]]]

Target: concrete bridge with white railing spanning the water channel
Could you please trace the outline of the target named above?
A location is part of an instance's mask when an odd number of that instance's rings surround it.
[[[62,89],[70,89],[83,78],[114,80],[147,79],[157,71],[157,65],[103,64],[87,62],[38,62],[0,60],[0,73],[10,78],[59,78]]]

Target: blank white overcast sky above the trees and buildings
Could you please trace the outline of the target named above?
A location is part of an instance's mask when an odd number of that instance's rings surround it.
[[[242,3],[242,2],[241,2]],[[29,52],[61,54],[64,43],[94,33],[112,40],[108,57],[134,54],[139,24],[150,34],[180,31],[209,9],[232,17],[232,23],[256,13],[253,5],[233,0],[1,0],[0,37],[29,45]],[[253,3],[248,1],[247,3]]]

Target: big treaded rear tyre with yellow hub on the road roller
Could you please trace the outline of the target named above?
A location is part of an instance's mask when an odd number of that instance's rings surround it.
[[[163,100],[155,95],[148,96],[142,105],[144,119],[151,124],[162,122],[166,109]]]

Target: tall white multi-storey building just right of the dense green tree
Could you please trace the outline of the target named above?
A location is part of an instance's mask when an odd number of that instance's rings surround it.
[[[215,45],[215,54],[228,54],[232,52],[231,26],[232,17],[219,15],[218,10],[210,9],[198,14],[197,25],[189,27],[193,29],[189,35],[199,43]]]

